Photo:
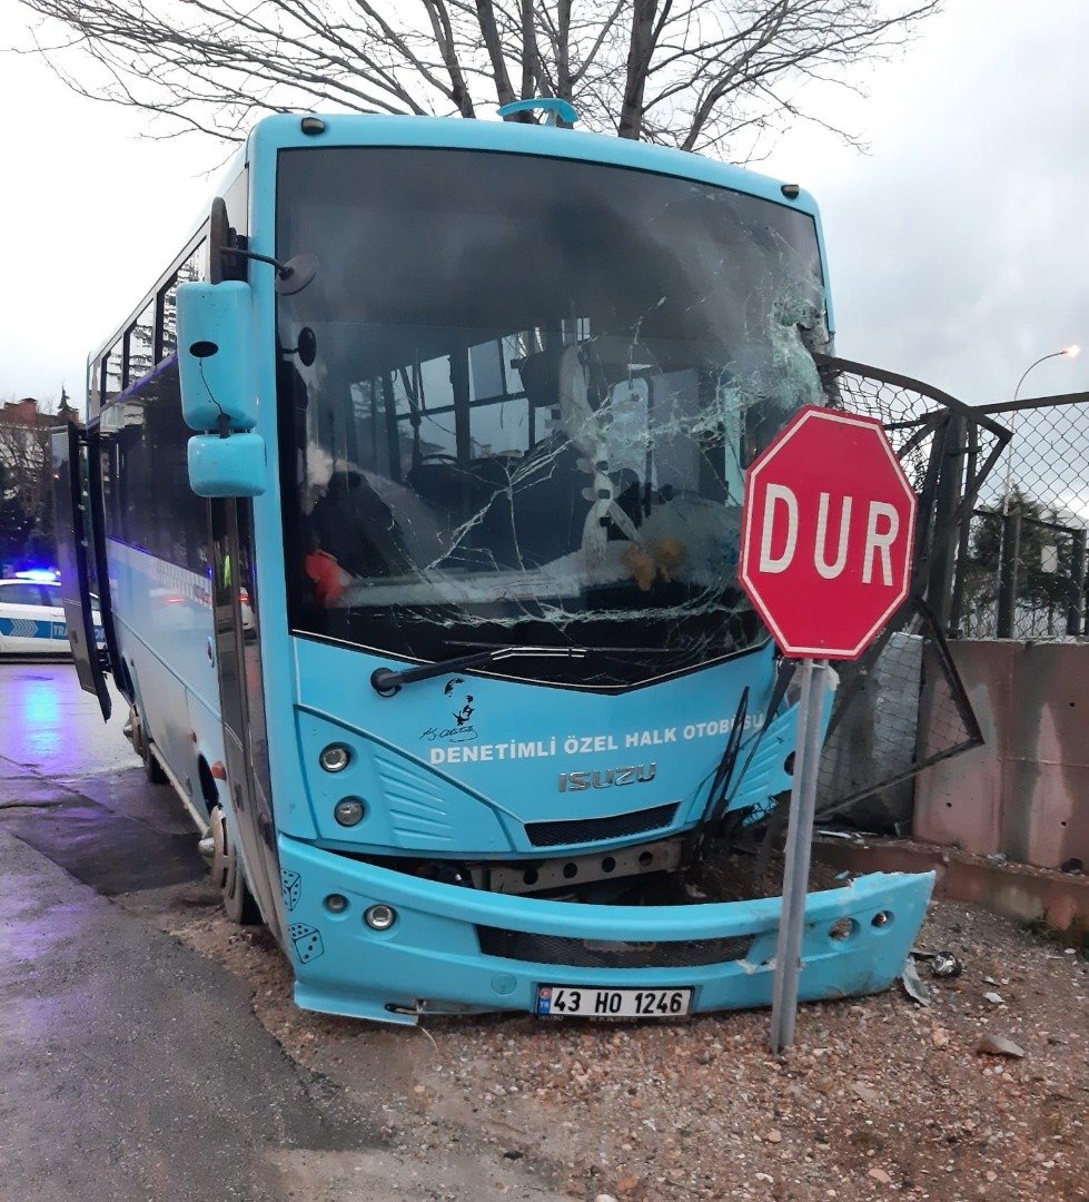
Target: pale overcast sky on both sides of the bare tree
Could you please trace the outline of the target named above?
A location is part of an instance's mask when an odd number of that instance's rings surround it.
[[[25,10],[0,13],[22,44]],[[761,169],[821,204],[840,355],[980,403],[1041,355],[1089,344],[1089,5],[948,0],[864,103],[827,112],[862,155],[811,126]],[[82,401],[88,351],[196,224],[221,147],[141,137],[147,118],[81,100],[30,58],[0,58],[4,284],[0,400]],[[1023,395],[1089,389],[1089,353],[1037,368]]]

